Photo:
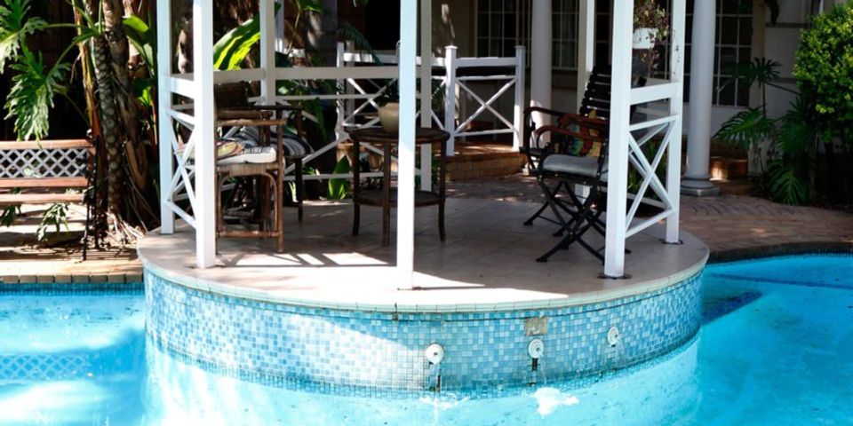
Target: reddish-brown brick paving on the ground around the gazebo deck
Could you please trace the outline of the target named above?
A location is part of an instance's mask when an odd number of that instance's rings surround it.
[[[724,189],[725,192],[725,189]],[[544,201],[534,179],[522,175],[452,182],[451,197],[493,201]],[[80,235],[82,217],[71,217],[66,240]],[[92,251],[82,262],[79,248],[35,242],[38,211],[19,225],[0,228],[0,282],[139,282],[142,271],[134,248]],[[682,229],[705,241],[712,252],[827,242],[853,247],[853,214],[792,207],[746,195],[682,197]]]

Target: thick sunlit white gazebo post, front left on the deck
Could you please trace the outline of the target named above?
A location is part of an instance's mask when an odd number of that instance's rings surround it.
[[[169,28],[169,27],[166,27]],[[193,0],[195,89],[195,263],[216,264],[216,154],[213,99],[213,4]]]

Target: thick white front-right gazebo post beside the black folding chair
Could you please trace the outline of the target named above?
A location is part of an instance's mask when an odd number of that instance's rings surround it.
[[[607,182],[607,235],[604,276],[625,276],[628,129],[631,115],[631,60],[634,0],[613,3],[613,64],[610,83],[610,151]]]

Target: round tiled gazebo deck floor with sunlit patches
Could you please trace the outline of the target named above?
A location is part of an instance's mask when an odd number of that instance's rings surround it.
[[[435,208],[417,210],[414,289],[398,291],[395,248],[379,244],[380,209],[364,208],[361,234],[351,234],[352,206],[316,203],[301,225],[287,209],[285,253],[273,241],[219,240],[217,266],[195,268],[195,234],[149,234],[140,244],[148,272],[212,293],[311,307],[376,312],[484,312],[557,308],[634,296],[698,273],[706,245],[682,233],[662,242],[662,225],[627,241],[626,280],[598,278],[601,262],[577,245],[546,264],[536,257],[557,241],[555,226],[522,222],[528,202],[450,199],[447,241],[438,238]],[[395,215],[392,215],[394,217]],[[597,234],[588,233],[594,246]],[[393,239],[392,239],[393,241]]]

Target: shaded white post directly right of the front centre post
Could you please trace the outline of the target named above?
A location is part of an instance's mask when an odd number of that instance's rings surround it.
[[[433,127],[433,2],[420,0],[420,127]],[[420,147],[420,190],[433,189],[433,147]]]

